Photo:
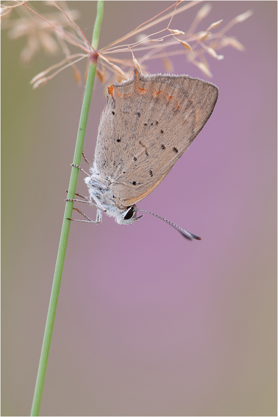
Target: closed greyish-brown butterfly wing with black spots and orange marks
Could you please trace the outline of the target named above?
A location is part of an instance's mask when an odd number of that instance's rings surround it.
[[[163,180],[210,117],[218,88],[188,76],[142,75],[108,88],[95,165],[118,207],[131,206]]]

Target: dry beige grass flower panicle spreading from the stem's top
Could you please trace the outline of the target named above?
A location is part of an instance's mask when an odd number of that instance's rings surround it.
[[[244,51],[244,46],[233,36],[227,36],[226,32],[235,24],[248,19],[253,13],[251,10],[231,19],[224,27],[221,19],[211,23],[206,29],[197,31],[198,26],[201,26],[202,21],[211,11],[211,5],[204,4],[186,32],[178,28],[170,28],[176,14],[185,12],[199,3],[200,1],[191,1],[183,4],[183,1],[177,1],[122,38],[99,50],[97,77],[101,83],[105,83],[107,70],[112,73],[107,81],[109,83],[115,79],[122,81],[129,78],[134,66],[146,72],[147,61],[150,59],[161,59],[165,69],[171,72],[173,66],[170,57],[179,54],[184,55],[188,62],[197,66],[206,77],[211,77],[205,55],[217,60],[224,59],[224,55],[219,54],[218,51],[227,46]],[[48,8],[53,8],[53,12],[39,14],[33,4],[31,6],[28,4],[29,2],[13,1],[12,4],[5,3],[1,7],[1,15],[4,18],[2,26],[9,30],[9,37],[17,39],[26,36],[26,45],[21,52],[22,61],[30,62],[40,50],[52,55],[58,53],[64,55],[60,62],[32,78],[30,84],[33,88],[42,86],[68,67],[73,68],[76,81],[81,83],[81,75],[76,64],[84,58],[89,58],[92,45],[74,22],[78,20],[79,12],[70,10],[66,2],[62,2],[62,8],[54,1],[49,1]],[[169,11],[171,8],[173,10]],[[10,19],[12,11],[19,17]],[[164,29],[147,33],[156,24],[167,20],[169,22]],[[216,28],[218,30],[215,30]],[[127,44],[126,41],[129,39],[130,43]],[[125,43],[121,44],[121,42]],[[72,52],[74,47],[81,51]],[[131,53],[131,57],[117,58],[116,54],[120,52]]]

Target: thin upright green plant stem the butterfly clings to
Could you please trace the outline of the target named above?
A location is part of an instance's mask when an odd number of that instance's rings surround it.
[[[103,0],[102,1],[99,0],[97,3],[97,16],[96,16],[96,21],[95,21],[95,26],[94,26],[94,31],[93,31],[93,40],[92,40],[92,46],[95,51],[98,48],[102,16],[103,16]],[[96,69],[97,69],[97,58],[98,58],[97,53],[92,52],[90,64],[88,68],[88,76],[87,76],[84,99],[83,99],[83,104],[82,104],[82,109],[81,109],[81,114],[80,114],[80,121],[79,121],[78,133],[77,133],[77,138],[76,138],[76,149],[75,149],[75,155],[74,155],[74,160],[73,160],[73,163],[77,165],[80,165],[81,156],[82,156],[86,124],[87,124],[90,102],[91,102],[91,97],[92,97],[92,92],[93,92],[94,78],[95,78]],[[72,167],[68,198],[75,198],[78,171],[79,171],[78,168]],[[67,242],[68,242],[68,236],[69,236],[70,224],[71,224],[71,221],[67,220],[67,217],[72,217],[73,205],[74,205],[73,202],[69,202],[69,201],[66,202],[64,220],[63,220],[60,243],[59,243],[58,254],[57,254],[57,261],[56,261],[55,272],[54,272],[54,277],[53,277],[53,285],[52,285],[52,290],[51,290],[49,310],[48,310],[46,327],[45,327],[45,334],[44,334],[44,339],[43,339],[40,363],[39,363],[36,386],[35,386],[33,403],[32,403],[31,416],[38,416],[39,411],[40,411],[40,405],[41,405],[41,399],[42,399],[42,393],[43,393],[44,381],[45,381],[45,375],[46,375],[46,368],[47,368],[50,345],[51,345],[51,337],[52,337],[52,331],[53,331],[53,326],[54,326],[54,319],[55,319],[56,307],[57,307],[58,296],[59,296],[59,289],[60,289],[60,284],[61,284],[61,278],[62,278],[62,272],[63,272],[63,266],[64,266],[64,260],[65,260],[65,255],[66,255],[66,248],[67,248]]]

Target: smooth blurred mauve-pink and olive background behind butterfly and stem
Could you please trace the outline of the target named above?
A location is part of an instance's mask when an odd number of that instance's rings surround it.
[[[99,46],[171,4],[105,1]],[[186,31],[203,4],[171,27]],[[148,214],[129,227],[105,215],[71,225],[41,416],[277,415],[277,2],[210,4],[199,30],[253,10],[227,32],[246,51],[207,56],[214,112],[138,204],[202,240]],[[69,6],[91,39],[96,1]],[[83,95],[71,69],[32,91],[29,80],[62,58],[24,68],[24,45],[2,35],[2,416],[30,413]],[[171,59],[173,73],[204,78]],[[166,72],[160,60],[147,69]],[[104,104],[96,79],[89,160]]]

